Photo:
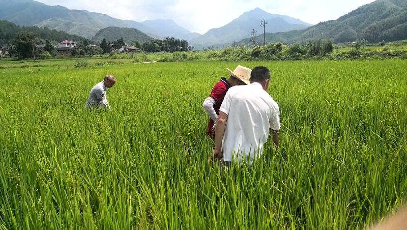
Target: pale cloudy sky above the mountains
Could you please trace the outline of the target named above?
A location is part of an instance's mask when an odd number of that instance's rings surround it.
[[[50,6],[88,10],[138,22],[172,19],[191,32],[206,33],[256,7],[317,24],[335,20],[372,0],[36,0]]]

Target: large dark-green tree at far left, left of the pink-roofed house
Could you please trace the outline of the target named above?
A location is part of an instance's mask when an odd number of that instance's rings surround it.
[[[13,53],[18,59],[26,59],[34,56],[36,35],[31,32],[22,31],[17,34],[13,41]]]

